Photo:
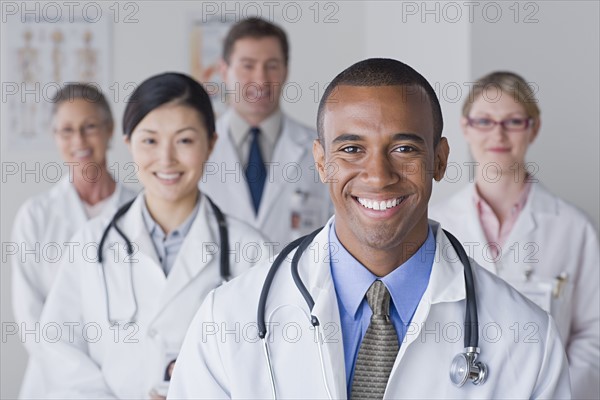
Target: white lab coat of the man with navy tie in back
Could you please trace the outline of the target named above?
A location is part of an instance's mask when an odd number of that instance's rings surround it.
[[[283,116],[283,127],[267,166],[258,215],[235,145],[229,134],[231,113],[217,121],[219,139],[204,168],[200,190],[231,214],[277,242],[277,251],[293,239],[325,225],[331,215],[327,185],[319,180],[312,156],[314,130]],[[295,216],[295,218],[292,218]],[[297,227],[292,226],[295,221]]]

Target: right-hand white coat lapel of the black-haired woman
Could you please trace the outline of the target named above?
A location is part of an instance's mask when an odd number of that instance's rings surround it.
[[[185,290],[186,286],[212,261],[215,257],[213,253],[216,252],[214,246],[220,248],[219,241],[208,226],[210,218],[215,217],[209,214],[210,206],[207,203],[206,197],[201,195],[198,214],[192,222],[160,295],[160,309],[157,310],[157,315],[162,313],[170,301]]]

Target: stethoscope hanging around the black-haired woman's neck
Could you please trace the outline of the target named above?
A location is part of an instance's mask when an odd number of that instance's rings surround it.
[[[229,267],[229,232],[227,229],[227,222],[225,221],[225,215],[223,215],[223,212],[219,209],[219,207],[217,207],[217,205],[208,196],[204,196],[204,197],[208,200],[208,203],[212,207],[213,212],[215,213],[215,217],[217,218],[217,224],[219,226],[219,240],[221,242],[220,243],[221,244],[221,247],[220,247],[221,258],[220,258],[219,271],[220,271],[221,279],[223,280],[223,282],[227,282],[231,278],[230,267]],[[125,203],[123,206],[121,206],[121,208],[119,208],[119,210],[117,210],[117,212],[115,213],[113,218],[110,220],[107,227],[104,229],[104,232],[102,233],[102,238],[100,239],[100,242],[98,244],[98,263],[100,264],[100,269],[102,270],[102,278],[104,280],[104,292],[106,295],[106,315],[107,315],[108,322],[110,325],[117,324],[118,321],[113,320],[110,315],[110,296],[108,295],[108,282],[106,280],[106,271],[104,270],[104,257],[102,255],[102,249],[104,248],[104,243],[106,242],[108,233],[110,232],[111,228],[114,228],[115,231],[117,231],[119,236],[121,236],[121,238],[125,241],[125,245],[127,247],[127,255],[128,255],[128,259],[129,259],[129,282],[131,283],[131,296],[133,298],[133,304],[134,304],[134,311],[133,311],[133,314],[131,315],[131,317],[129,318],[128,323],[136,322],[137,313],[138,313],[137,296],[135,294],[135,287],[133,284],[133,265],[132,265],[132,261],[131,261],[131,258],[133,256],[133,244],[131,243],[131,240],[129,240],[127,235],[125,235],[125,233],[117,225],[117,222],[119,221],[119,219],[123,215],[125,215],[125,213],[127,213],[127,211],[129,211],[129,209],[131,208],[131,205],[134,203],[134,201],[135,201],[135,199]]]

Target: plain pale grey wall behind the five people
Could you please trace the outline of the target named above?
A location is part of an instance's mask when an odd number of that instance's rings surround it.
[[[188,71],[187,27],[192,13],[201,14],[200,3],[135,3],[139,6],[138,22],[113,26],[113,81],[123,85],[167,70]],[[323,88],[343,68],[366,57],[398,58],[422,72],[438,90],[445,116],[444,135],[452,148],[451,161],[462,165],[470,158],[458,125],[468,82],[491,70],[514,70],[539,88],[543,125],[528,155],[529,161],[539,165],[538,177],[550,190],[579,206],[598,226],[600,7],[597,1],[520,2],[517,6],[513,1],[481,1],[470,6],[467,2],[434,1],[321,2],[317,22],[314,2],[296,2],[302,16],[294,23],[289,22],[295,18],[293,15],[281,12],[286,2],[275,3],[275,21],[287,30],[291,41],[289,81],[302,88],[297,102],[283,104],[291,115],[314,126],[317,102],[311,87],[315,83]],[[102,3],[105,9],[111,4]],[[213,4],[220,7],[222,2]],[[241,11],[244,3],[239,4]],[[268,17],[265,2],[256,4]],[[228,6],[234,9],[235,4],[228,2]],[[326,15],[337,21],[324,23]],[[15,38],[2,32],[1,40],[5,46]],[[2,82],[4,79],[3,76]],[[1,106],[3,116],[6,107],[4,103]],[[121,118],[124,106],[122,99],[113,105],[116,120]],[[59,160],[54,149],[8,152],[6,135],[7,132],[0,135],[2,163]],[[130,158],[119,137],[117,128],[117,140],[109,157],[111,162],[125,163]],[[436,185],[432,201],[439,201],[466,184],[464,172],[458,182]],[[3,243],[10,241],[10,229],[20,204],[50,186],[43,180],[2,182]],[[2,258],[0,317],[4,333],[5,323],[14,318],[10,269],[4,263],[4,254]],[[3,334],[0,346],[0,397],[15,398],[26,354],[15,336],[5,338]]]

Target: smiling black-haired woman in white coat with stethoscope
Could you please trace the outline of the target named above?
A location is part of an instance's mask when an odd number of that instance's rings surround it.
[[[164,398],[206,295],[267,257],[257,231],[198,189],[217,140],[199,83],[179,73],[142,82],[123,134],[143,191],[77,237],[98,243],[92,260],[76,256],[61,269],[43,321],[78,324],[72,340],[41,346],[51,397]],[[98,340],[89,340],[90,324]]]

